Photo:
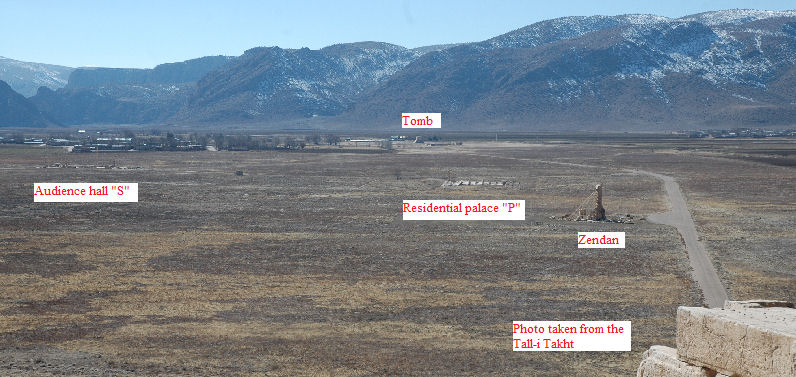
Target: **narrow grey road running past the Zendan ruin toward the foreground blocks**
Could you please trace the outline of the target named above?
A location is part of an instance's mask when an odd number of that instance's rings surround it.
[[[727,290],[724,289],[724,285],[721,284],[719,275],[716,274],[716,269],[713,268],[713,264],[710,262],[705,252],[705,245],[699,241],[696,224],[694,224],[694,220],[691,218],[691,213],[688,212],[685,198],[683,198],[683,193],[680,191],[680,185],[674,181],[674,178],[667,175],[644,170],[631,171],[653,176],[663,181],[666,189],[666,196],[669,198],[672,209],[669,212],[648,216],[647,219],[654,223],[671,225],[677,228],[677,231],[680,232],[685,242],[688,260],[691,263],[691,268],[694,270],[694,280],[696,280],[697,284],[702,289],[702,294],[705,297],[705,304],[711,308],[723,307],[724,301],[728,299]]]

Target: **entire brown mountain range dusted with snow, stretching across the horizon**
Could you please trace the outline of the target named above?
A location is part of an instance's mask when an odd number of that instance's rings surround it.
[[[42,86],[27,101],[65,125],[392,130],[402,112],[440,112],[449,130],[784,126],[796,120],[796,11],[565,17],[416,49],[257,47],[151,70],[79,68]]]

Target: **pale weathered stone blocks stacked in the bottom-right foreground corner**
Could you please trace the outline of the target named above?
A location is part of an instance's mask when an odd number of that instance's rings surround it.
[[[677,349],[652,346],[637,377],[796,376],[796,309],[784,301],[726,301],[677,309]]]

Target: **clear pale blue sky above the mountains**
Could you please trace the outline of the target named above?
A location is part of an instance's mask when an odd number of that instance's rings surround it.
[[[779,1],[0,0],[0,56],[70,67],[152,68],[258,46],[318,49],[379,41],[474,42],[556,17],[720,9],[796,9]]]

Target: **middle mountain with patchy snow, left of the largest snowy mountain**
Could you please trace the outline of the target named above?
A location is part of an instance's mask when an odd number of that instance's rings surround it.
[[[379,42],[320,50],[258,47],[199,80],[177,119],[285,119],[337,115],[422,53]]]

